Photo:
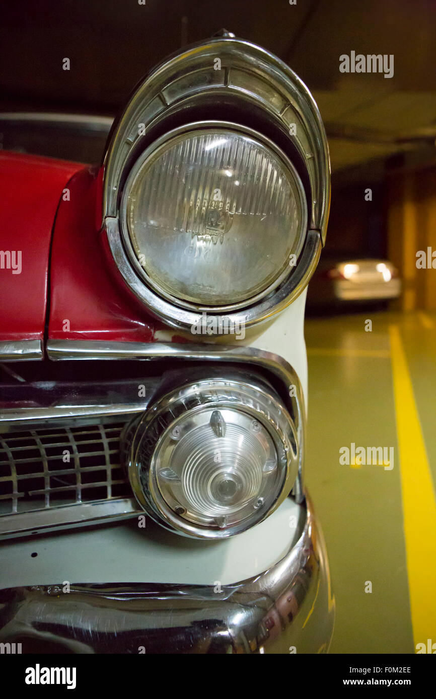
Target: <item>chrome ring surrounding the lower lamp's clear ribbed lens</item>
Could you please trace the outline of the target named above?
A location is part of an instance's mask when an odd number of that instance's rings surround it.
[[[236,408],[259,421],[272,437],[283,470],[283,486],[274,502],[258,510],[258,516],[243,519],[232,528],[214,528],[195,524],[171,510],[162,496],[155,473],[155,452],[177,418],[185,412],[206,408]],[[145,442],[143,442],[145,440]],[[206,379],[190,382],[169,392],[153,405],[134,428],[129,447],[128,472],[134,496],[157,524],[192,538],[219,540],[246,531],[259,524],[283,502],[295,484],[300,463],[298,433],[293,419],[275,391],[253,382],[229,379]],[[141,450],[141,454],[139,454]],[[145,455],[145,456],[144,456]],[[145,463],[139,458],[144,459]]]

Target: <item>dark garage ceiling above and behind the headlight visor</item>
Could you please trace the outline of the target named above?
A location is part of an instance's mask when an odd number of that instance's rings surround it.
[[[0,109],[112,115],[156,62],[221,27],[307,83],[336,171],[436,131],[435,0],[24,0],[1,10]],[[393,54],[393,78],[340,73],[352,50]]]

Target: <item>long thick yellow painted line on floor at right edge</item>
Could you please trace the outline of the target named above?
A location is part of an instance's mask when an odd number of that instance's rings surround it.
[[[405,350],[389,326],[407,575],[415,647],[436,642],[436,500]]]

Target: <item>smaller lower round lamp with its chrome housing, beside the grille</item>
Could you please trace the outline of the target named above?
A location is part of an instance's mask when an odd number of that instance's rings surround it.
[[[144,509],[197,538],[265,519],[297,468],[293,423],[278,396],[228,380],[189,384],[158,401],[136,428],[129,460]]]

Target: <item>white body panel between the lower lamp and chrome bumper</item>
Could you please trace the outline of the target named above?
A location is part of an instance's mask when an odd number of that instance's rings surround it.
[[[270,517],[222,541],[199,541],[146,519],[74,529],[0,547],[0,589],[31,585],[157,582],[232,584],[260,574],[295,545],[305,508],[287,498]],[[300,526],[298,525],[300,522]],[[32,557],[31,554],[38,554]]]

